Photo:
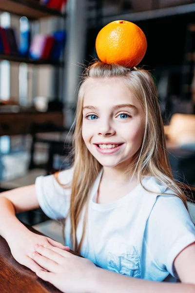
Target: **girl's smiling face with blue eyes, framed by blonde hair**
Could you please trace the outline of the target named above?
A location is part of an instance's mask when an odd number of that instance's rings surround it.
[[[85,145],[104,167],[129,165],[143,139],[140,103],[120,78],[90,79],[86,87],[82,124]]]

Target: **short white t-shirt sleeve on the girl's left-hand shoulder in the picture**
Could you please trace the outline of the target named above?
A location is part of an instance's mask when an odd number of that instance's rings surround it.
[[[71,169],[63,170],[59,173],[59,182],[68,184],[72,177]],[[37,177],[35,188],[39,206],[49,218],[57,220],[66,217],[70,208],[71,188],[59,185],[54,175]]]

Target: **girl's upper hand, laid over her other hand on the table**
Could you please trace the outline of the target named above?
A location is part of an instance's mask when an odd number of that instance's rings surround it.
[[[64,293],[86,293],[96,266],[86,258],[76,256],[57,247],[35,246],[32,258],[41,269],[36,271],[39,278],[50,282]]]

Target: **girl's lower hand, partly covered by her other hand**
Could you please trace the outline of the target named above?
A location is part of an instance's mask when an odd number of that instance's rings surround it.
[[[63,246],[61,243],[50,239],[49,237],[35,234],[29,230],[25,233],[18,235],[18,237],[12,237],[9,239],[8,245],[10,247],[13,257],[25,267],[31,269],[33,272],[37,272],[38,269],[42,269],[32,258],[32,253],[36,243],[47,244],[48,247],[58,247],[62,251],[69,251],[69,247]]]

